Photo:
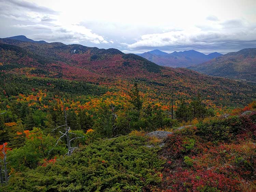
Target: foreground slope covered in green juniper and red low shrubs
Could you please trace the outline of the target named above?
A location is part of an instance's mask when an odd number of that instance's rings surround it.
[[[70,157],[12,173],[0,190],[255,191],[255,119],[255,112],[219,117],[177,129],[163,141],[138,131],[97,139]]]

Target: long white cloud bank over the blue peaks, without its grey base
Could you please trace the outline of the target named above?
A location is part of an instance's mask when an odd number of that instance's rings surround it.
[[[201,30],[192,28],[183,31],[170,31],[166,33],[154,33],[142,35],[141,39],[129,44],[131,49],[140,47],[165,47],[165,46],[198,46],[198,45],[218,45],[228,41],[256,41],[256,29],[243,28],[241,21],[226,21],[229,28],[219,25],[221,30]],[[236,24],[240,24],[237,28]],[[236,27],[232,31],[231,26]],[[210,29],[210,28],[209,28]]]

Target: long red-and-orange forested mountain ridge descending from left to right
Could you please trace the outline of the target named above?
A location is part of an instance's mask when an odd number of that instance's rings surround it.
[[[194,51],[185,53],[193,55]],[[246,83],[210,77],[184,68],[162,67],[118,49],[77,44],[39,44],[0,39],[0,71],[3,75],[89,82],[124,92],[130,90],[133,82],[137,82],[147,97],[154,101],[168,99],[173,89],[177,99],[193,98],[200,93],[209,104],[225,106],[237,106],[255,98],[254,87]],[[4,80],[8,80],[7,77]]]

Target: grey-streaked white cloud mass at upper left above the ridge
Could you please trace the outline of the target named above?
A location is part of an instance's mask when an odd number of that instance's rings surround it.
[[[3,6],[0,7],[0,15],[17,20],[19,23],[12,27],[20,31],[31,31],[30,34],[25,34],[31,39],[66,43],[109,43],[103,36],[92,32],[85,26],[61,22],[59,12],[47,7],[20,0],[0,0],[1,2]]]

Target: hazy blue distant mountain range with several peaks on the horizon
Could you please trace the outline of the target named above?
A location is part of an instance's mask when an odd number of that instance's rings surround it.
[[[190,65],[200,64],[205,61],[209,61],[213,58],[222,56],[222,54],[214,52],[209,55],[205,55],[195,50],[188,51],[174,51],[173,53],[165,53],[158,49],[138,54],[147,60],[150,60],[158,65],[169,67],[188,67]]]

